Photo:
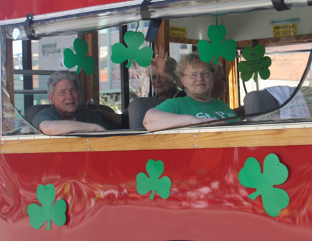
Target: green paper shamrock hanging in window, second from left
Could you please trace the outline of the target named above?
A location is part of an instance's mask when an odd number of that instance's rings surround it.
[[[121,43],[116,43],[112,46],[112,62],[120,64],[129,59],[128,65],[130,68],[132,61],[135,60],[138,65],[147,67],[150,65],[154,51],[150,47],[139,47],[144,44],[144,34],[141,32],[128,31],[123,38],[128,48]]]

